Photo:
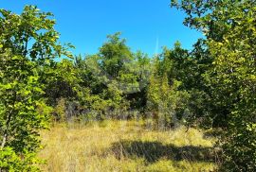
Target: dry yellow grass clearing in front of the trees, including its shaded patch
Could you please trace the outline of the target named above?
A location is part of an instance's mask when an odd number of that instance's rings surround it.
[[[42,133],[45,171],[212,171],[212,139],[180,128],[150,130],[143,122],[57,125]]]

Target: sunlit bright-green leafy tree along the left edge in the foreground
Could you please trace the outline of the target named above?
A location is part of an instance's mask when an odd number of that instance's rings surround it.
[[[33,6],[20,15],[0,13],[0,169],[38,170],[39,131],[47,128],[50,112],[42,98],[42,69],[71,54],[58,43],[51,13]]]

